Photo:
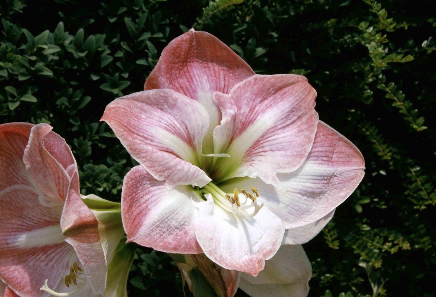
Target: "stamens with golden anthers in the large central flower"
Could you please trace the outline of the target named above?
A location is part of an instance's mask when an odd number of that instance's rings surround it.
[[[233,195],[229,195],[213,183],[209,183],[202,187],[200,193],[204,195],[211,194],[216,204],[232,214],[254,217],[263,207],[263,203],[257,203],[256,198],[259,197],[259,191],[256,190],[255,187],[250,187],[250,189],[253,193],[241,189],[241,194],[243,194],[242,199],[239,198],[240,193],[238,189],[234,189],[232,193]]]

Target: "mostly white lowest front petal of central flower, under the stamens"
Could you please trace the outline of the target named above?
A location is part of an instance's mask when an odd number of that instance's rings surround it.
[[[195,236],[204,254],[223,268],[258,274],[282,243],[282,222],[266,207],[255,217],[242,217],[207,196],[207,201],[196,203],[200,217]]]

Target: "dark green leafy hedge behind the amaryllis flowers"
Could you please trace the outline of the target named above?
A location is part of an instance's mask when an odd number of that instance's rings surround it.
[[[143,90],[170,40],[208,31],[256,73],[306,75],[320,120],[366,160],[358,189],[303,245],[309,296],[435,296],[433,2],[1,0],[0,123],[50,123],[82,194],[119,201],[136,164],[99,122],[104,108]],[[128,291],[184,294],[171,258],[143,247]]]

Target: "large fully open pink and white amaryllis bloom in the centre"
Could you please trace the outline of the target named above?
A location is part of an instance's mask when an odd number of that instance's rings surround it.
[[[257,275],[298,239],[285,230],[327,216],[364,175],[315,97],[303,76],[254,74],[211,34],[171,41],[145,91],[102,117],[140,163],[123,184],[128,240]]]

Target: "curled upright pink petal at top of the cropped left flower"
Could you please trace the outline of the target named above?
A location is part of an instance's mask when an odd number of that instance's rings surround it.
[[[51,132],[51,129],[53,128],[48,124],[35,125],[23,157],[35,187],[43,194],[40,197],[43,204],[65,201],[70,175],[77,171],[71,169],[77,168],[77,165],[67,143],[58,134]],[[78,179],[73,186],[78,191]]]

